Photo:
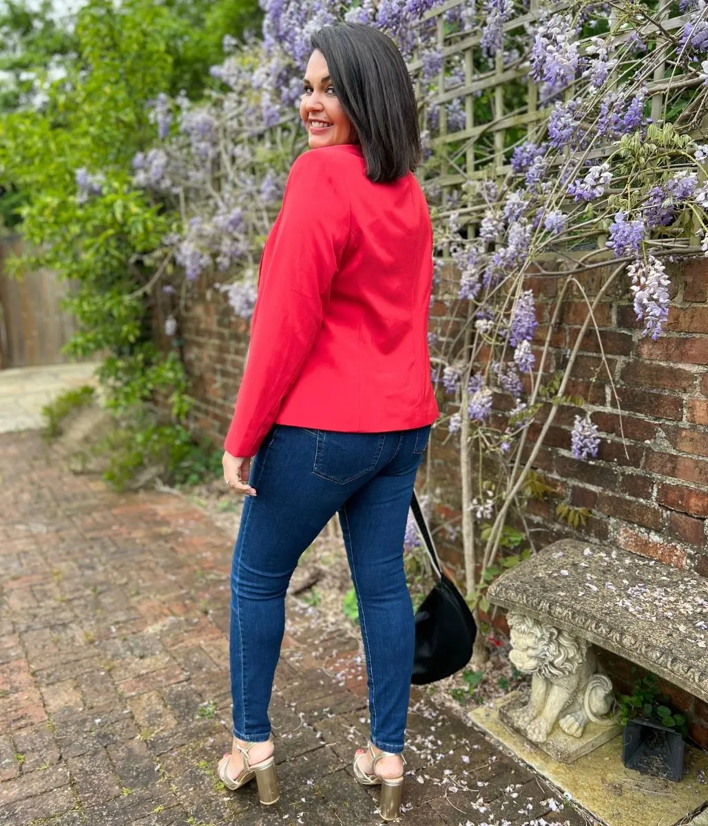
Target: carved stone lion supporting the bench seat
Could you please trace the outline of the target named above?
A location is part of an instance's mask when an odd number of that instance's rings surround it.
[[[599,671],[586,640],[518,611],[510,611],[506,619],[511,630],[509,659],[520,672],[533,675],[529,703],[521,710],[527,738],[544,743],[556,721],[578,738],[588,720],[614,724],[601,719],[614,705],[612,683]]]

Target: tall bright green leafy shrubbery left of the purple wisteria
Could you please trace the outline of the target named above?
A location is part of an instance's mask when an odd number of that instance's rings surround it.
[[[154,346],[149,307],[156,250],[179,219],[133,187],[132,159],[154,141],[147,104],[164,91],[196,97],[214,85],[208,67],[223,59],[223,36],[258,26],[261,12],[256,0],[88,0],[72,28],[51,21],[51,7],[44,0],[33,11],[21,0],[0,14],[0,68],[18,78],[0,97],[0,213],[6,225],[21,222],[26,241],[7,271],[48,268],[74,282],[64,305],[78,333],[66,353],[104,359],[99,379],[121,422],[101,446],[116,450],[107,479],[124,487],[162,462],[173,482],[197,482],[220,460],[193,443],[183,363],[177,349]],[[49,81],[50,64],[64,77]],[[33,74],[22,86],[26,69]],[[42,84],[41,107],[27,105],[33,83]],[[100,192],[79,192],[79,169]],[[156,402],[168,420],[145,415]],[[47,411],[49,434],[63,415],[60,406]]]

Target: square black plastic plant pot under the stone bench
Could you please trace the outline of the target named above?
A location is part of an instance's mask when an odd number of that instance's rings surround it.
[[[683,737],[649,720],[632,719],[625,725],[622,760],[628,769],[680,781],[683,774]]]

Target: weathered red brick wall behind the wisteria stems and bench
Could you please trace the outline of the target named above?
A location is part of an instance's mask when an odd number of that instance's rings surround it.
[[[708,577],[708,261],[670,264],[672,308],[666,335],[653,342],[641,335],[634,318],[629,285],[622,278],[596,313],[602,346],[611,369],[623,414],[616,409],[614,392],[601,365],[595,332],[581,347],[568,393],[584,396],[592,420],[601,429],[599,455],[592,463],[578,462],[570,452],[570,430],[576,407],[562,406],[540,449],[536,468],[558,491],[544,501],[531,501],[525,515],[537,548],[555,539],[575,536],[622,548]],[[583,287],[596,295],[607,273],[587,275]],[[529,279],[538,298],[540,343],[548,330],[558,295],[555,278]],[[226,434],[243,368],[249,324],[237,319],[220,294],[200,287],[188,301],[180,320],[179,344],[192,378],[196,397],[193,420],[216,444]],[[161,328],[172,297],[159,297],[156,324]],[[446,308],[431,309],[430,329],[436,320],[460,322],[445,316]],[[582,297],[568,297],[561,323],[553,334],[551,368],[562,367],[568,348],[577,340],[585,305]],[[166,339],[163,340],[165,341]],[[175,343],[173,342],[173,346]],[[537,351],[537,358],[540,351]],[[441,411],[447,401],[439,392]],[[497,399],[504,406],[503,398]],[[450,411],[452,412],[452,411]],[[542,416],[540,417],[542,418]],[[532,435],[538,434],[535,425]],[[620,433],[624,432],[624,442]],[[446,428],[433,431],[430,480],[437,503],[433,525],[459,525],[459,447]],[[558,521],[555,507],[567,501],[592,511],[587,525],[574,531]],[[461,544],[455,531],[438,532],[440,552],[450,563],[461,563]],[[615,662],[620,690],[630,687],[629,664]],[[606,663],[607,665],[607,663]],[[609,667],[613,672],[613,667]],[[691,720],[691,738],[708,748],[706,704],[682,696],[672,686],[677,707]]]

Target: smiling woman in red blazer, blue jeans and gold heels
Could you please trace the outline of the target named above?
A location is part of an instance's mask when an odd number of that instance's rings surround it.
[[[354,771],[401,804],[414,627],[402,546],[438,416],[427,345],[432,231],[412,170],[416,100],[392,40],[368,26],[312,38],[300,114],[310,151],[265,244],[224,476],[248,495],[231,573],[230,789],[278,800],[268,701],[301,553],[339,514],[359,603],[371,738]],[[253,458],[253,467],[250,462]],[[248,482],[245,479],[248,478]]]

